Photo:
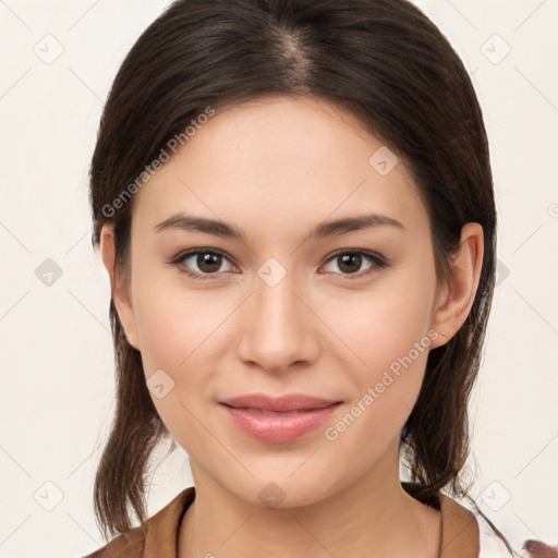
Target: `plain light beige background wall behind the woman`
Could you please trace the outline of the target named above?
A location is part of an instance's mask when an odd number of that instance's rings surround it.
[[[463,58],[492,144],[500,274],[472,402],[472,494],[512,544],[556,544],[558,1],[416,3]],[[92,490],[112,344],[87,170],[119,64],[167,4],[0,0],[1,557],[101,544]],[[51,286],[35,274],[47,258],[62,271]],[[191,484],[179,449],[154,475],[150,513]]]

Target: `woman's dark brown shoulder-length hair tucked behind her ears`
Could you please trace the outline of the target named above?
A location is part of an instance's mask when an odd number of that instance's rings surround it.
[[[423,497],[448,485],[453,495],[466,496],[459,473],[470,451],[468,404],[495,287],[496,209],[487,136],[468,72],[412,3],[178,0],[169,5],[129,52],[105,106],[90,166],[93,244],[98,247],[102,225],[113,223],[116,259],[125,269],[135,197],[118,210],[113,201],[206,107],[267,94],[335,102],[404,161],[428,210],[440,283],[448,279],[461,228],[483,227],[484,262],[470,315],[446,344],[430,350],[418,399],[401,432],[411,480]],[[149,456],[170,436],[113,300],[110,319],[117,408],[95,480],[95,512],[106,537],[131,529],[129,505],[143,524]]]

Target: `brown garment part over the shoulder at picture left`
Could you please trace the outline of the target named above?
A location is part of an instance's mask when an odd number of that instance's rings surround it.
[[[143,558],[144,555],[174,558],[180,523],[194,498],[195,488],[185,488],[143,524],[83,558]]]

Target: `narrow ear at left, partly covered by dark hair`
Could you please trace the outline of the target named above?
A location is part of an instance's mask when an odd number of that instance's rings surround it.
[[[133,341],[128,339],[129,343],[134,349],[138,349],[135,315],[130,294],[130,278],[125,276],[125,271],[121,269],[121,266],[118,266],[116,263],[114,228],[111,223],[106,223],[101,228],[100,253],[102,263],[109,274],[112,300],[114,301],[120,323],[124,328],[126,337],[133,336]]]

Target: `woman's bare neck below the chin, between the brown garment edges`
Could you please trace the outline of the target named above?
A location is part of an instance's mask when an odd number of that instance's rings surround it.
[[[402,488],[398,444],[357,482],[295,508],[247,502],[193,464],[196,498],[180,526],[179,558],[437,557],[440,513]]]

